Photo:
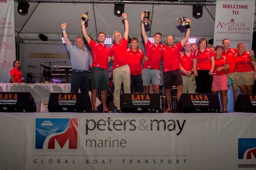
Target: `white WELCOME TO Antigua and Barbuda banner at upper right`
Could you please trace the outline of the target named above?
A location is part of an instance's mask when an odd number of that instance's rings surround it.
[[[252,33],[255,1],[216,1],[213,45],[221,45],[228,38],[230,47],[243,42],[252,49]]]

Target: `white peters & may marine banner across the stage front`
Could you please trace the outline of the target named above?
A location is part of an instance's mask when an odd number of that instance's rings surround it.
[[[0,169],[255,169],[256,114],[0,113]]]

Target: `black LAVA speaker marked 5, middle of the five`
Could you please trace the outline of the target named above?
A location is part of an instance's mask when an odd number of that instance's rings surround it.
[[[121,111],[126,113],[159,113],[160,95],[155,93],[123,93]]]

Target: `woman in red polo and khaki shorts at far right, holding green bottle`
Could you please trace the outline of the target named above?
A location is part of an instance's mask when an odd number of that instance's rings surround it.
[[[237,49],[239,53],[235,55],[236,85],[242,94],[252,94],[253,81],[256,80],[256,63],[245,50],[244,43],[238,43]]]

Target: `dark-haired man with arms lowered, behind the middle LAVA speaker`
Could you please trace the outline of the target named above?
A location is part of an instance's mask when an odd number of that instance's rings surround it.
[[[127,49],[128,63],[131,70],[131,92],[142,93],[143,82],[141,78],[141,61],[144,58],[144,52],[138,48],[139,39],[132,37],[131,47]],[[144,61],[143,61],[144,62]]]

